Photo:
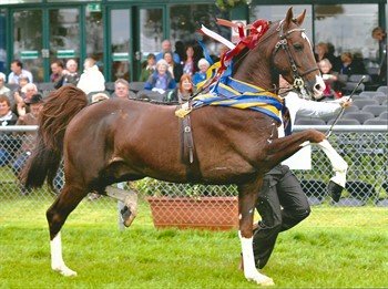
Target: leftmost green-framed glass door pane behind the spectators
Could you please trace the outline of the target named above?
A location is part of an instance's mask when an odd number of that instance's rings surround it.
[[[33,82],[44,80],[43,70],[43,14],[42,10],[13,12],[13,59],[33,75]],[[44,55],[43,55],[44,56]]]

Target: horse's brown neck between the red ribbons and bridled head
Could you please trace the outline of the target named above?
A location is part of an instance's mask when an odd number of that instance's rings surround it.
[[[243,60],[234,78],[265,90],[274,89],[274,84],[277,83],[270,70],[269,58],[254,51],[251,51]]]

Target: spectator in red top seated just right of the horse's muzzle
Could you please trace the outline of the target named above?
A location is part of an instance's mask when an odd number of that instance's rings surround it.
[[[321,61],[319,61],[318,66],[323,74],[323,79],[326,85],[324,96],[330,99],[341,97],[340,90],[345,86],[345,83],[338,80],[338,73],[333,71],[330,61],[328,59],[323,59]]]

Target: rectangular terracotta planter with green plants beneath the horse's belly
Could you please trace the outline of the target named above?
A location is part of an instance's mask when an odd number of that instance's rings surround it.
[[[144,179],[156,228],[227,230],[238,227],[238,198],[234,186],[172,184]],[[137,188],[139,189],[139,188]]]

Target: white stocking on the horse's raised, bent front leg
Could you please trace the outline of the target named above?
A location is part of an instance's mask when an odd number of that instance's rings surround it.
[[[333,171],[336,173],[334,177],[330,179],[340,185],[341,187],[345,187],[346,184],[346,172],[348,169],[348,164],[344,161],[344,158],[336,152],[336,149],[333,148],[330,143],[327,140],[321,141],[320,143],[317,143],[317,145],[324,151],[324,153],[329,158]]]

